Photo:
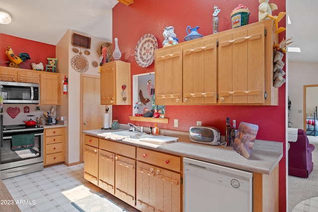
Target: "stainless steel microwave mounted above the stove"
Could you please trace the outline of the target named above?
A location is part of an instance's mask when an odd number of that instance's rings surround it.
[[[1,81],[3,103],[38,104],[40,102],[40,84]]]

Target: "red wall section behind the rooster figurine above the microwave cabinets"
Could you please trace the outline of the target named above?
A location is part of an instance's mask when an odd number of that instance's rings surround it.
[[[6,61],[8,58],[5,55],[7,46],[11,46],[15,55],[20,53],[28,53],[31,60],[27,60],[19,64],[22,69],[32,69],[31,63],[48,64],[47,58],[55,58],[55,46],[36,41],[31,41],[23,38],[18,38],[0,33],[0,66],[8,66]]]

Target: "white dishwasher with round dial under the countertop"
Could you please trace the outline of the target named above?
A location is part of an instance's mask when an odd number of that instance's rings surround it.
[[[252,212],[253,173],[183,158],[184,212]]]

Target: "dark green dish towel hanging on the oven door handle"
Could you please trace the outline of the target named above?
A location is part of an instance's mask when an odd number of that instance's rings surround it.
[[[12,136],[12,150],[30,149],[34,147],[34,134]]]

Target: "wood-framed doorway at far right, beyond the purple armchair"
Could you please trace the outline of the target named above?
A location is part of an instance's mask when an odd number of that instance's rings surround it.
[[[304,131],[306,131],[306,114],[314,114],[318,106],[318,84],[304,85]],[[317,114],[316,114],[317,115]]]

